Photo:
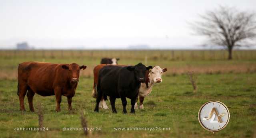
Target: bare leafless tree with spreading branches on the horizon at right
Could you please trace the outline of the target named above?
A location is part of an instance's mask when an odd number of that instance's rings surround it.
[[[234,47],[255,44],[256,15],[253,12],[220,6],[200,15],[200,18],[200,21],[191,24],[196,34],[207,36],[208,44],[224,46],[229,53],[228,59],[232,59]]]

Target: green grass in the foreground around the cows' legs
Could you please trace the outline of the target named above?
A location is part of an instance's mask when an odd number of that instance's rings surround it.
[[[80,111],[88,121],[88,127],[100,127],[90,132],[90,137],[252,137],[256,128],[256,74],[213,74],[198,75],[198,91],[192,92],[187,75],[163,76],[163,83],[154,87],[144,100],[143,110],[136,114],[122,114],[122,103],[116,100],[118,113],[100,109],[93,112],[95,99],[91,96],[92,78],[81,77],[76,95],[73,97],[74,110],[68,111],[66,97],[62,97],[61,112],[55,112],[54,96],[34,96],[34,106],[42,104],[46,132],[14,131],[19,127],[38,127],[38,115],[19,111],[16,80],[0,80],[0,132],[1,137],[82,137],[82,131],[62,131],[63,127],[81,127]],[[220,132],[212,134],[198,122],[198,110],[206,101],[219,100],[230,110],[230,122]],[[110,103],[107,101],[109,107]],[[127,109],[130,110],[130,100]],[[115,131],[114,127],[161,127],[165,131]]]

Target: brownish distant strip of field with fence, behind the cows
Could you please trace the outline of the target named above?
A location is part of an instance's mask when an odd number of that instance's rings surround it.
[[[204,56],[202,56],[204,53]],[[78,63],[86,65],[84,77],[93,76],[93,68],[102,57],[119,57],[119,64],[160,65],[168,68],[166,75],[195,73],[256,73],[256,50],[234,51],[228,61],[226,51],[0,51],[0,79],[16,79],[17,67],[24,61]]]

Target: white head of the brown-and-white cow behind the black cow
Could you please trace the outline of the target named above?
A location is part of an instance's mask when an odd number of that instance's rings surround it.
[[[154,83],[162,83],[162,74],[166,71],[166,68],[161,69],[159,66],[154,66],[149,73],[150,81],[153,81]]]

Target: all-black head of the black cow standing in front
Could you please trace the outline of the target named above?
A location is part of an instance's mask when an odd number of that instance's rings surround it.
[[[145,74],[146,74],[146,71],[148,71],[149,69],[152,69],[152,66],[146,67],[142,63],[138,63],[135,66],[127,67],[127,70],[132,71],[134,73],[136,80],[139,81],[140,83],[145,83]]]

